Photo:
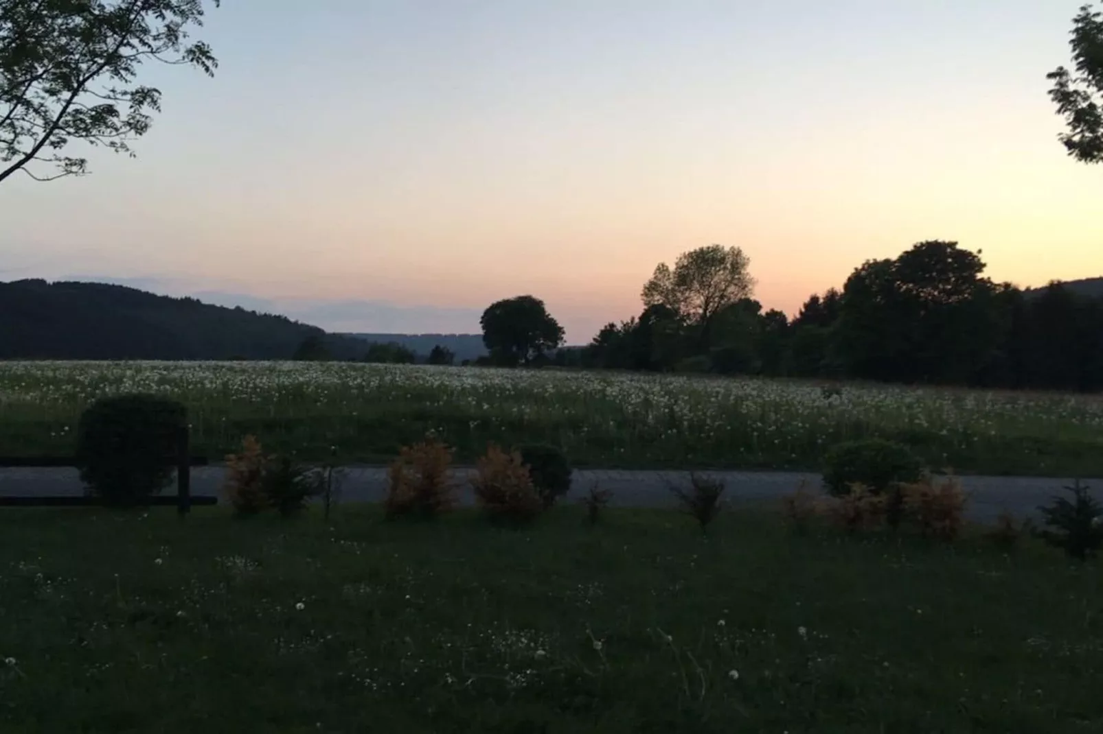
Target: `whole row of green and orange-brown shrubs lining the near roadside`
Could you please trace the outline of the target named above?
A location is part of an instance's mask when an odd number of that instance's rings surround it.
[[[186,409],[174,400],[151,395],[97,400],[77,429],[81,477],[106,505],[138,505],[170,481],[186,429]],[[310,497],[329,490],[331,474],[324,468],[306,466],[291,456],[266,455],[255,436],[246,436],[240,452],[228,455],[226,463],[224,492],[238,515],[269,508],[292,515]],[[450,481],[451,463],[452,450],[432,436],[404,447],[389,468],[386,515],[426,518],[452,509],[458,488]],[[570,489],[570,463],[563,452],[539,444],[512,450],[491,444],[471,477],[484,512],[511,525],[528,522],[553,507]],[[824,457],[823,485],[827,497],[801,488],[784,499],[785,516],[799,530],[823,517],[852,532],[907,522],[923,537],[952,540],[963,525],[965,495],[960,483],[953,477],[936,482],[908,446],[891,441],[833,446]],[[1019,537],[1034,533],[1074,558],[1095,554],[1103,546],[1103,508],[1079,483],[1069,489],[1072,500],[1057,498],[1041,508],[1046,529],[1036,531],[1002,516],[993,540],[1011,548]],[[721,483],[694,475],[692,490],[672,490],[703,530],[719,512]],[[582,499],[591,521],[608,501],[608,492],[591,488]]]

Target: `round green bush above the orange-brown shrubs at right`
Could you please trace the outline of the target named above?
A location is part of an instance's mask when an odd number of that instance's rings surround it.
[[[884,439],[839,443],[824,456],[824,487],[835,497],[849,494],[852,484],[881,494],[898,482],[919,482],[922,475],[923,463],[911,449]]]

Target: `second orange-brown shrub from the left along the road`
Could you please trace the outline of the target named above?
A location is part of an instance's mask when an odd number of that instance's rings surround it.
[[[403,446],[390,465],[383,508],[387,517],[436,517],[456,507],[456,487],[448,471],[452,450],[436,439]]]

